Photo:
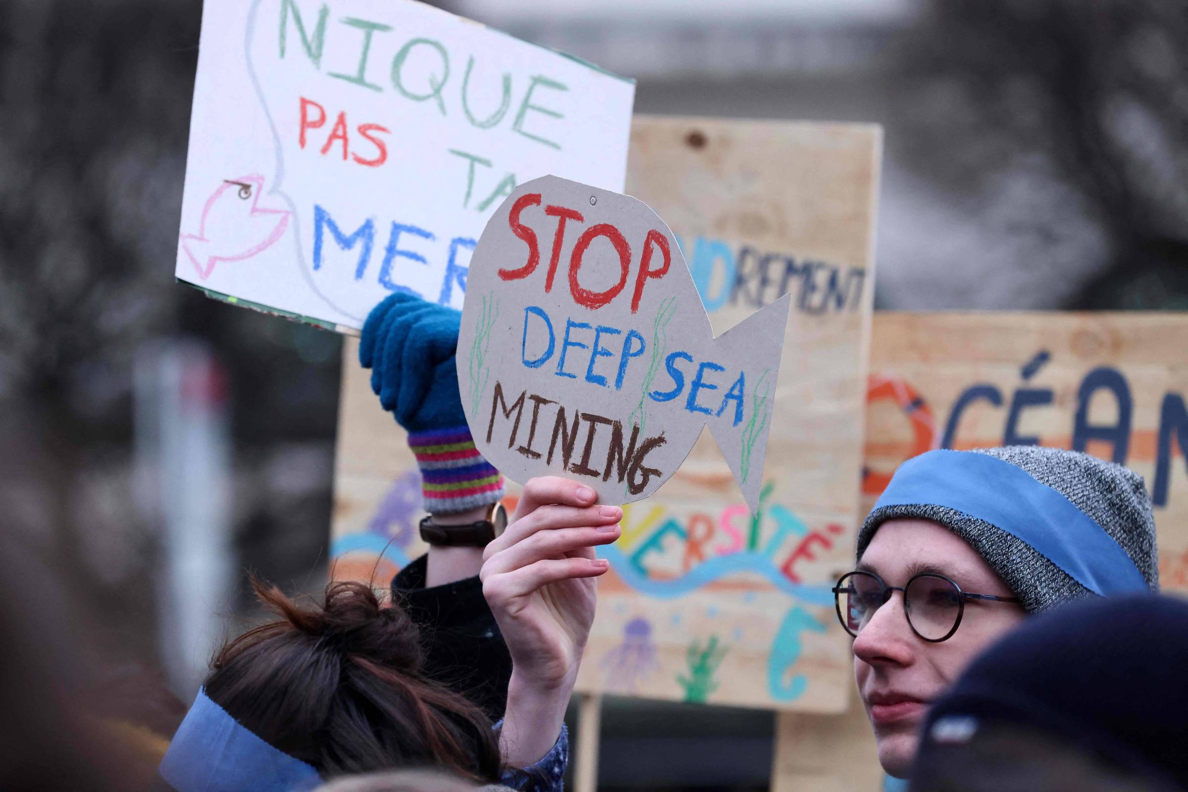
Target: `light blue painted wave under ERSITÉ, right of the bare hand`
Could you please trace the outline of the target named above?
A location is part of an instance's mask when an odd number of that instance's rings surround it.
[[[792,583],[776,569],[770,558],[754,552],[715,556],[672,581],[653,581],[640,575],[627,556],[613,545],[599,547],[598,556],[599,558],[609,560],[614,565],[614,571],[619,574],[619,577],[627,585],[657,600],[675,600],[721,577],[738,575],[739,572],[753,572],[765,577],[769,583],[784,594],[802,600],[808,604],[826,607],[833,604],[830,587]]]

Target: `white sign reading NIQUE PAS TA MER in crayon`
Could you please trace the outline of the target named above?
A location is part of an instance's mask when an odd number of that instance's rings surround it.
[[[339,329],[460,306],[487,218],[621,190],[634,84],[411,0],[206,0],[176,274]]]

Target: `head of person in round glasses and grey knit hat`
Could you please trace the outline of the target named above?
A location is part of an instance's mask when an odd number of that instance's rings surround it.
[[[1143,480],[1038,446],[929,451],[899,467],[834,587],[887,774],[908,778],[930,702],[996,638],[1087,596],[1158,591]]]

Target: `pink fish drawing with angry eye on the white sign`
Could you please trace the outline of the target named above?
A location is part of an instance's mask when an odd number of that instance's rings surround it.
[[[220,261],[242,261],[271,247],[289,227],[286,209],[258,205],[264,177],[225,180],[202,208],[197,234],[182,234],[182,249],[206,280]]]

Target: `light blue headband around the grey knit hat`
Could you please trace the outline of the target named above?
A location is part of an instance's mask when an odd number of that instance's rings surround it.
[[[896,470],[874,508],[943,506],[990,522],[1102,596],[1150,591],[1126,551],[1063,493],[988,454],[929,451]]]

